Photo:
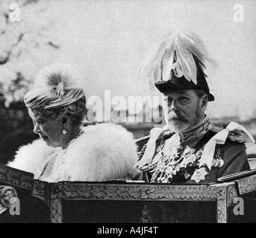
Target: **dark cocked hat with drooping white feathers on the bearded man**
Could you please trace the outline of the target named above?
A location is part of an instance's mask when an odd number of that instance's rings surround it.
[[[146,62],[148,77],[162,93],[182,89],[202,89],[213,101],[204,73],[205,62],[216,65],[207,56],[202,40],[195,33],[175,32],[154,49]],[[149,66],[150,65],[150,66]]]

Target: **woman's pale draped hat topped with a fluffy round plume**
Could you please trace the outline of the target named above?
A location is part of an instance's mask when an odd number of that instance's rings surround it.
[[[69,64],[54,64],[37,74],[33,88],[25,94],[30,109],[53,109],[84,97],[80,73]]]

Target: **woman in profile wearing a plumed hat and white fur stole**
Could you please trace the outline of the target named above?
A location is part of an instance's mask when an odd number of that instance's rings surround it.
[[[86,97],[74,68],[43,69],[24,101],[40,139],[21,147],[8,166],[48,182],[133,179],[132,134],[112,123],[82,126]]]

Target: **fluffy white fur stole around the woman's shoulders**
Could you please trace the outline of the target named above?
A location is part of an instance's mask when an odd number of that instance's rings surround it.
[[[21,147],[14,161],[7,165],[34,173],[34,179],[39,179],[54,155],[61,155],[58,164],[63,165],[52,170],[54,174],[61,174],[60,181],[130,179],[136,173],[137,147],[131,132],[113,123],[99,123],[83,129],[84,134],[66,149],[48,147],[39,139]],[[45,181],[53,182],[51,178]]]

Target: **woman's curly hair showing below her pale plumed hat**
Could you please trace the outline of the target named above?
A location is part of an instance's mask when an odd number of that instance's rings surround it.
[[[73,126],[81,126],[85,116],[87,115],[86,97],[81,97],[75,103],[66,106],[60,106],[54,109],[37,108],[31,109],[47,118],[56,119],[68,116]]]

